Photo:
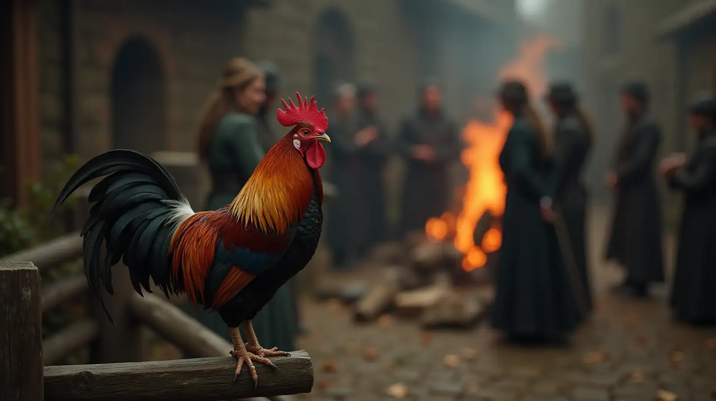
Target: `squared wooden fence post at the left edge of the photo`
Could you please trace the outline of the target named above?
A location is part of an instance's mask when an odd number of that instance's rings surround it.
[[[0,262],[0,395],[44,400],[40,276],[32,262]]]

